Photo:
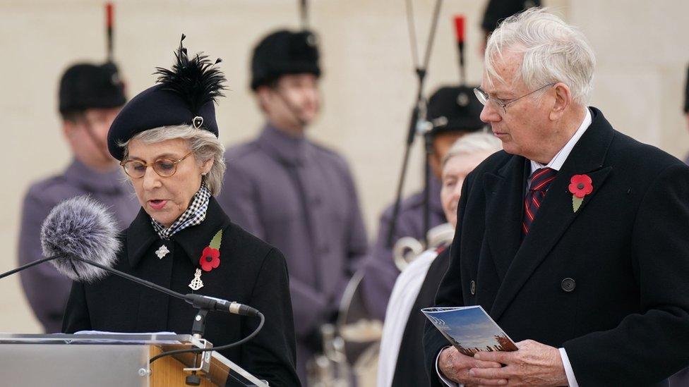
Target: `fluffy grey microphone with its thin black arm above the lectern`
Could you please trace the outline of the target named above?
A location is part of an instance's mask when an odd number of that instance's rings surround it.
[[[41,228],[41,245],[46,258],[0,274],[0,278],[49,261],[57,271],[73,281],[92,283],[107,274],[114,274],[184,300],[197,309],[217,310],[242,316],[260,314],[257,309],[239,302],[191,293],[183,295],[113,269],[112,265],[121,246],[117,238],[116,221],[107,207],[88,195],[67,199],[50,211]]]

